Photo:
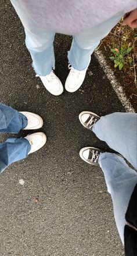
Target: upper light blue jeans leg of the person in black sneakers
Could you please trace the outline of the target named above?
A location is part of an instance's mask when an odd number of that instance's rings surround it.
[[[100,117],[92,128],[96,136],[137,168],[137,114],[112,113]]]

